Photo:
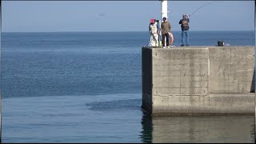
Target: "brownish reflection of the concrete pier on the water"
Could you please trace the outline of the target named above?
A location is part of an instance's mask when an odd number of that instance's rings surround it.
[[[254,142],[254,116],[142,116],[142,142]]]

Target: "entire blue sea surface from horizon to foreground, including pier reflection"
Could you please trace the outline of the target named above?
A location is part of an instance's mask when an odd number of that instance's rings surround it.
[[[174,46],[181,33],[174,31]],[[147,32],[2,33],[2,142],[254,142],[254,116],[143,114]],[[190,32],[254,46],[254,31]]]

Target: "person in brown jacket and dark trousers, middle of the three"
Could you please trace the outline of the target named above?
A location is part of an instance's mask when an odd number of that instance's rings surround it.
[[[161,30],[162,30],[162,47],[163,48],[170,48],[169,42],[169,32],[170,32],[170,22],[167,21],[167,18],[162,18]]]

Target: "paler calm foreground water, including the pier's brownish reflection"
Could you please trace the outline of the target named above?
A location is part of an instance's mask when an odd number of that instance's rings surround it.
[[[254,116],[142,114],[141,94],[2,99],[2,142],[254,142]]]

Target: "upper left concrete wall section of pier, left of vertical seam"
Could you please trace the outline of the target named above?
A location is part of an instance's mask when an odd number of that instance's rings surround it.
[[[207,48],[153,49],[153,94],[208,94]]]

